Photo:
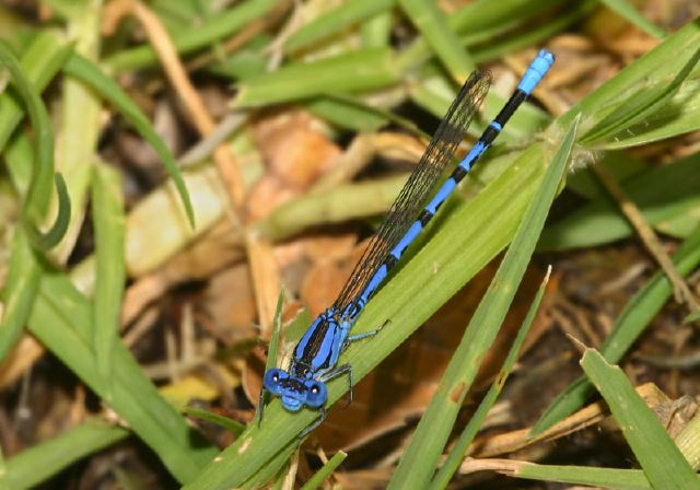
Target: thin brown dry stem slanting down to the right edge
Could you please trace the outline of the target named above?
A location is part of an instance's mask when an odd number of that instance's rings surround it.
[[[640,238],[642,238],[642,242],[644,243],[646,249],[649,249],[650,254],[652,254],[654,259],[658,262],[661,268],[668,277],[668,280],[674,288],[674,298],[676,299],[676,301],[679,303],[685,302],[693,312],[698,310],[700,307],[700,304],[688,288],[686,281],[678,273],[678,270],[676,269],[676,266],[674,266],[674,262],[664,252],[664,248],[658,241],[656,233],[654,233],[652,228],[649,225],[639,208],[629,199],[629,197],[627,197],[620,185],[607,168],[605,168],[603,165],[596,164],[593,165],[593,171],[598,176],[605,188],[618,201],[620,210],[622,211],[625,217],[627,217],[632,228],[637,230],[637,233],[639,234]]]

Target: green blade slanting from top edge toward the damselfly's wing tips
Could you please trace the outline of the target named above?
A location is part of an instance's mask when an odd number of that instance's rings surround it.
[[[398,3],[452,78],[465,80],[475,68],[474,61],[462,47],[439,4],[432,0],[398,0]]]

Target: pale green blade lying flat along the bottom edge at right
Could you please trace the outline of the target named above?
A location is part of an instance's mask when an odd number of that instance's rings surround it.
[[[611,490],[652,490],[653,488],[641,469],[518,463],[515,468],[500,470],[500,472],[526,480],[584,485]],[[700,482],[700,479],[698,481]]]

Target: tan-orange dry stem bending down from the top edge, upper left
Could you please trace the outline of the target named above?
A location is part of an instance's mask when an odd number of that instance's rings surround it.
[[[160,19],[151,12],[150,9],[136,0],[117,0],[117,2],[113,3],[118,5],[120,9],[119,12],[130,11],[133,13],[143,25],[149,40],[153,45],[153,49],[165,70],[167,79],[189,112],[197,131],[199,131],[202,137],[207,137],[213,132],[215,124],[207,112],[201,97],[189,81],[187,72],[177,55],[177,50],[173,45],[173,40]],[[121,7],[121,4],[126,4],[126,7]],[[115,7],[115,9],[117,7]],[[233,201],[233,207],[235,209],[240,208],[245,199],[245,186],[231,150],[226,145],[220,145],[214,151],[213,159],[224,180],[230,195],[229,197]]]

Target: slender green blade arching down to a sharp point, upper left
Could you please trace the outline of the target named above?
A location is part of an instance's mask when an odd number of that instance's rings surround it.
[[[121,88],[107,77],[98,67],[96,67],[89,59],[73,54],[70,57],[66,66],[63,67],[66,73],[77,78],[81,82],[94,89],[102,97],[113,104],[121,115],[133,126],[133,128],[153,147],[153,150],[163,161],[165,170],[173,179],[179,198],[183,201],[187,219],[190,226],[195,226],[195,211],[192,203],[187,192],[187,186],[183,179],[183,175],[177,168],[175,159],[172,153],[165,147],[165,143],[155,132],[155,129],[151,126],[147,117],[141,113],[139,107],[129,98],[129,96],[121,90]]]

